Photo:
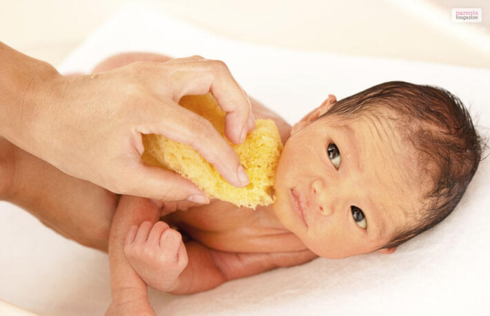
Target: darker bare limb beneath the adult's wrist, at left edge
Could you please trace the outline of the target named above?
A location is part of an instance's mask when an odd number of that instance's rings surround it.
[[[0,137],[0,199],[84,246],[107,251],[117,196],[70,177]]]

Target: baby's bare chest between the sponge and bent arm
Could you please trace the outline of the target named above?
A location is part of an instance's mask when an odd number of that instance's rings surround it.
[[[237,208],[223,201],[176,211],[163,218],[204,246],[233,253],[282,253],[306,249],[267,208]]]

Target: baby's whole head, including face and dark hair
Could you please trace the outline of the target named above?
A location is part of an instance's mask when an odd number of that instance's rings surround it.
[[[284,145],[275,214],[322,257],[392,253],[452,212],[480,157],[471,117],[447,90],[391,81],[329,95]]]

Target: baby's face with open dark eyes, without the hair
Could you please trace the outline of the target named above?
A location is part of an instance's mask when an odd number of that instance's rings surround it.
[[[317,255],[371,253],[421,207],[413,149],[386,119],[315,120],[322,106],[284,146],[274,212]]]

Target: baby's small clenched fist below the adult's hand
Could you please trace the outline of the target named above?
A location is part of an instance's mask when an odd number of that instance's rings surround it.
[[[188,257],[182,235],[164,221],[151,225],[144,221],[130,228],[124,243],[124,253],[131,266],[148,286],[168,292],[186,268]]]

